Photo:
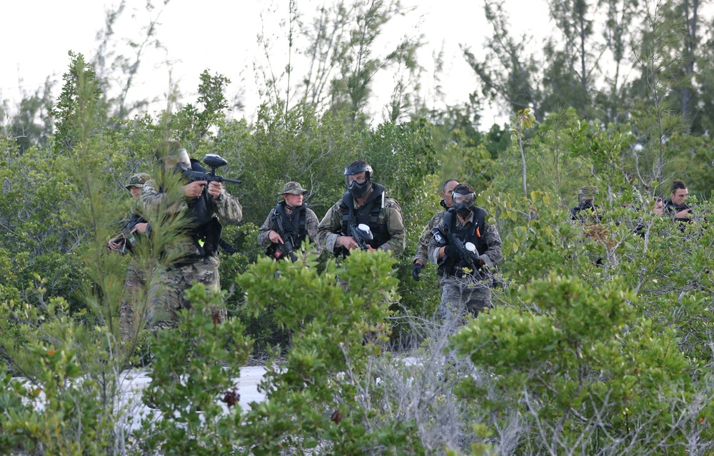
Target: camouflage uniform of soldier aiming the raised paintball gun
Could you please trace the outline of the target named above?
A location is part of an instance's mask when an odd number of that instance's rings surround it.
[[[169,198],[171,196],[161,191],[156,181],[147,182],[141,194],[141,200],[147,211],[165,211],[169,214],[191,211],[188,204],[198,203],[203,198],[203,203],[206,204],[213,218],[218,216],[221,223],[238,223],[243,218],[241,203],[238,202],[238,198],[228,194],[226,188],[223,188],[218,199],[209,196],[205,190],[199,198],[188,200],[182,197],[173,203],[165,204],[165,201],[173,201]],[[149,311],[146,318],[149,328],[176,328],[178,310],[191,308],[183,292],[191,286],[192,282],[203,283],[208,290],[218,290],[221,287],[218,278],[220,262],[217,253],[202,255],[199,245],[186,238],[178,240],[171,249],[181,251],[184,260],[178,264],[159,266],[161,268],[159,279],[149,291]]]

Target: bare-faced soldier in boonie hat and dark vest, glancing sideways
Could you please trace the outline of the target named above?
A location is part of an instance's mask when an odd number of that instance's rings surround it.
[[[312,209],[303,203],[306,193],[308,191],[298,182],[288,182],[283,186],[283,191],[278,192],[278,195],[283,196],[282,201],[271,209],[265,223],[258,230],[258,245],[268,248],[266,255],[271,258],[297,258],[291,253],[293,249],[299,250],[306,238],[313,244],[317,243],[320,222]],[[320,249],[317,248],[319,253]]]

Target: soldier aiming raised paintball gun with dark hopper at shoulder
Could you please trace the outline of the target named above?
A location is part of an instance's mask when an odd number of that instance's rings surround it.
[[[156,154],[166,173],[179,176],[184,182],[183,171],[206,172],[201,163],[188,158],[186,150],[176,142],[164,144]],[[178,240],[165,249],[164,258],[173,260],[162,265],[164,270],[158,283],[151,288],[146,318],[149,328],[175,328],[178,310],[191,307],[183,296],[186,288],[193,282],[203,283],[209,290],[221,288],[218,277],[221,222],[240,222],[243,208],[238,198],[228,194],[223,184],[216,181],[193,181],[173,191],[165,191],[157,181],[149,181],[144,185],[141,200],[147,211],[164,217],[186,216],[188,220],[183,230],[185,235],[179,235]]]

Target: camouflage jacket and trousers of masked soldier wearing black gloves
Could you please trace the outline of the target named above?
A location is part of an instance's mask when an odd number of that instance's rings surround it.
[[[474,213],[472,211],[471,216],[465,223],[462,223],[456,214],[455,230],[462,230],[464,228],[471,227],[474,223]],[[438,225],[441,233],[448,232],[448,227],[444,220],[442,219]],[[477,270],[473,273],[462,273],[458,270],[456,274],[449,273],[445,271],[441,273],[441,280],[439,285],[441,286],[441,304],[439,306],[439,311],[441,317],[444,320],[444,326],[446,330],[451,331],[456,326],[458,326],[466,312],[471,313],[474,317],[478,315],[479,312],[483,312],[486,308],[492,308],[491,304],[491,282],[492,277],[489,269],[495,267],[503,259],[503,254],[501,253],[501,236],[498,235],[496,227],[493,225],[484,224],[483,229],[483,243],[486,246],[485,251],[480,253],[480,258],[483,260],[483,266],[481,270]],[[446,238],[447,245],[450,240]],[[431,238],[429,241],[428,255],[429,260],[436,265],[442,265],[446,261],[446,255],[444,255],[441,260],[438,258],[439,249],[441,245],[438,244],[436,239]]]

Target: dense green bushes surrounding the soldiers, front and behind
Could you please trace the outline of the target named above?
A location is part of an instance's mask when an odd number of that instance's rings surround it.
[[[96,103],[93,77],[74,56],[46,146],[0,142],[3,452],[711,451],[714,233],[704,141],[679,141],[650,173],[630,151],[656,151],[652,143],[639,147],[627,124],[591,124],[573,111],[540,125],[518,113],[512,143],[496,153],[481,137],[423,120],[366,128],[304,106],[263,106],[248,124],[223,116],[227,81],[208,73],[201,109],[114,121]],[[224,231],[239,250],[222,259],[225,291],[192,288],[196,306],[178,330],[126,346],[117,315],[128,258],[107,253],[106,240],[129,211],[126,179],[155,172],[152,152],[166,138],[194,158],[226,158],[221,172],[243,181],[229,191],[245,221]],[[356,253],[341,265],[327,253],[295,264],[264,258],[257,227],[282,184],[300,181],[321,216],[355,158],[401,203],[406,251]],[[480,191],[505,260],[496,308],[449,338],[434,318],[435,268],[415,282],[411,258],[451,177]],[[697,199],[693,223],[650,212],[673,178]],[[585,184],[600,188],[599,223],[568,218]],[[226,320],[211,311],[218,303]],[[288,334],[291,348],[273,350]],[[267,400],[241,410],[233,385],[253,350],[271,355]],[[154,381],[144,401],[155,412],[130,431],[138,418],[118,399],[121,373],[146,353]]]

